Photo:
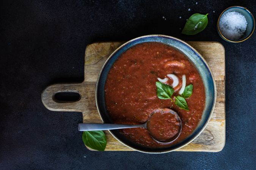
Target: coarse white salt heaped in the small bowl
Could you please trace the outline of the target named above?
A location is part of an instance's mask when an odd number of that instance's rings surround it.
[[[227,12],[220,18],[220,31],[228,39],[239,40],[247,27],[245,16],[239,12]]]

